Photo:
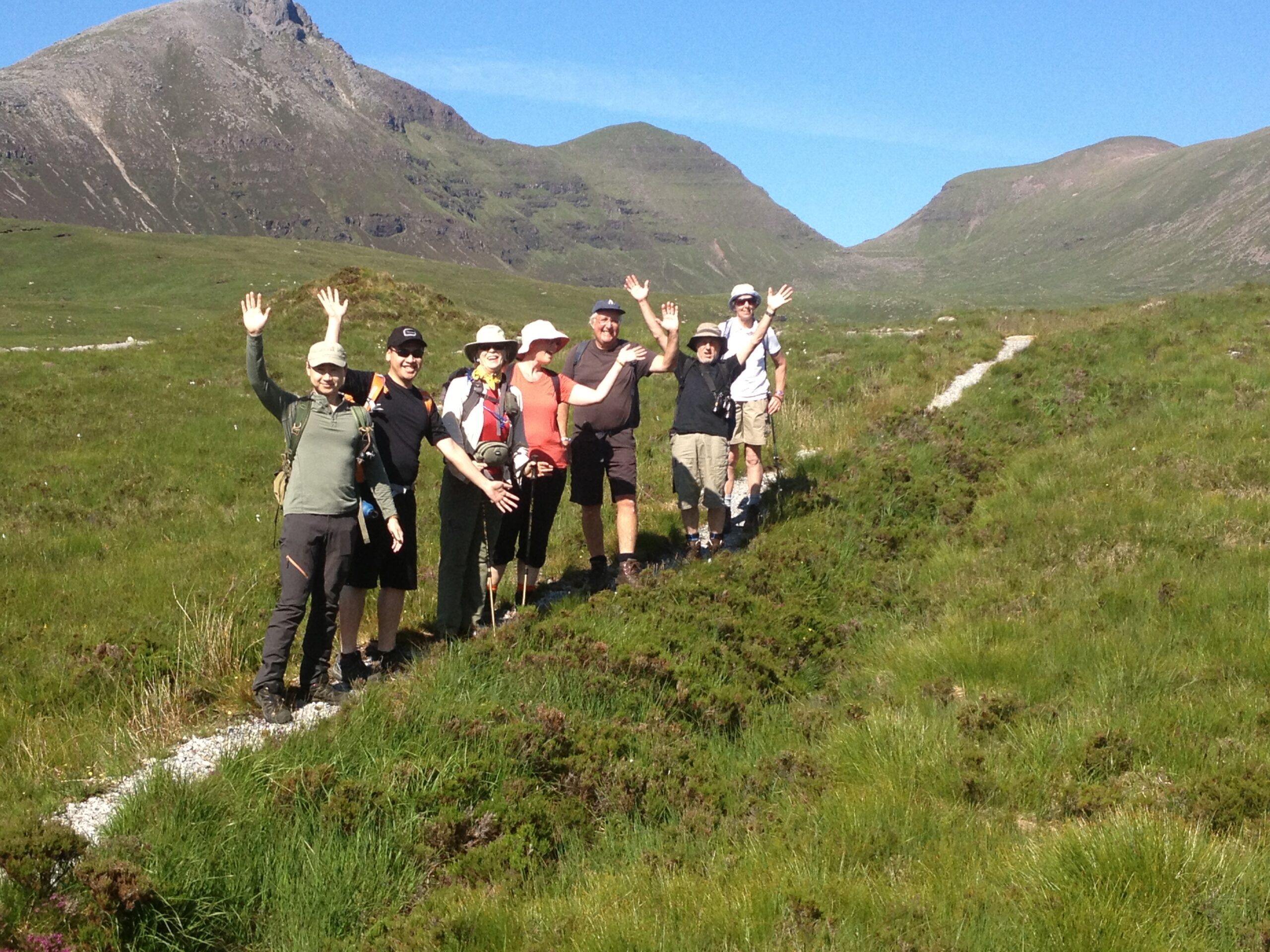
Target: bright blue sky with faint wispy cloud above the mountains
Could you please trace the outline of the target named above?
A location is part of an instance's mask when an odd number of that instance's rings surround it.
[[[149,5],[24,5],[0,65]],[[1111,136],[1191,145],[1270,126],[1265,0],[304,6],[354,58],[489,136],[551,145],[650,122],[845,245],[974,169]]]

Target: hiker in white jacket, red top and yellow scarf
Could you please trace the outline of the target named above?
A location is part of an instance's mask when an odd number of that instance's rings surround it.
[[[472,367],[446,385],[441,421],[481,472],[499,482],[530,459],[521,421],[521,393],[508,364],[519,344],[486,324],[464,348]],[[437,566],[437,633],[466,635],[480,623],[489,575],[489,548],[502,513],[479,486],[446,462],[441,477],[441,564]]]

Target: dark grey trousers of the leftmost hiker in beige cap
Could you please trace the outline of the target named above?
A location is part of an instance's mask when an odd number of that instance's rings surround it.
[[[339,592],[344,588],[357,537],[356,515],[310,515],[291,513],[282,517],[278,560],[282,594],[264,632],[260,670],[253,691],[269,688],[282,692],[291,642],[309,604],[304,654],[300,659],[300,689],[323,684],[330,677],[330,646],[339,616]]]

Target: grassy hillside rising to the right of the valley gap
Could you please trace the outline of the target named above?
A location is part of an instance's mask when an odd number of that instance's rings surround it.
[[[851,251],[907,260],[911,270],[892,284],[909,293],[1002,303],[1087,303],[1264,279],[1270,129],[1185,149],[1114,138],[973,171]]]

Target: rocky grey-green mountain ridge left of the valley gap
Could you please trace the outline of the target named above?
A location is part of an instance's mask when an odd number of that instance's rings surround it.
[[[174,0],[0,70],[0,215],[345,241],[584,284],[632,269],[679,291],[756,270],[836,281],[838,245],[653,128],[613,133],[627,147],[603,156],[603,137],[490,138],[357,63],[291,0]],[[649,157],[676,150],[711,174]],[[683,215],[690,195],[709,213]]]

